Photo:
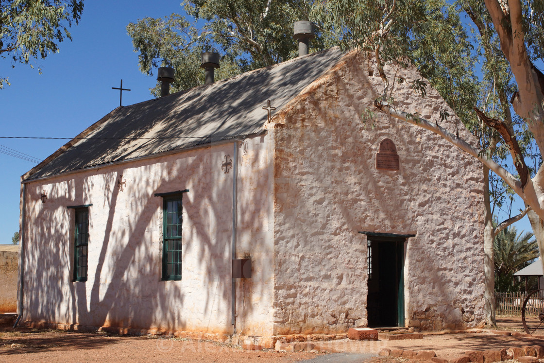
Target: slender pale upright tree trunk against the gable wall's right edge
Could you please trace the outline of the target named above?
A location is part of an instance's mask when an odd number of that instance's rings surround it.
[[[484,204],[485,204],[485,224],[484,224],[484,283],[485,283],[485,319],[486,323],[496,326],[495,319],[495,263],[493,258],[493,242],[495,232],[493,228],[493,216],[491,214],[491,200],[489,197],[489,173],[490,170],[485,165],[484,168]]]

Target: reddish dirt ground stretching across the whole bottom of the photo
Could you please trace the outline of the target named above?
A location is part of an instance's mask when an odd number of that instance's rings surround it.
[[[499,317],[498,330],[522,332],[520,317]],[[544,330],[533,337],[490,333],[425,335],[423,339],[399,341],[324,341],[316,349],[333,354],[251,352],[209,341],[130,337],[98,333],[67,333],[58,330],[0,329],[0,361],[171,361],[182,362],[311,362],[368,361],[382,348],[434,350],[440,358],[453,358],[466,350],[502,349],[524,345],[544,346]],[[350,353],[350,354],[346,354]],[[361,354],[364,353],[364,354]],[[366,354],[366,355],[365,355]],[[367,357],[367,358],[365,358]],[[372,358],[369,363],[411,363],[412,360]],[[421,361],[419,361],[421,363]]]

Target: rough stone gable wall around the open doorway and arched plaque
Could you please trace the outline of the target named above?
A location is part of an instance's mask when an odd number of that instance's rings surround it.
[[[370,71],[370,72],[369,72]],[[376,76],[370,76],[370,73]],[[453,111],[416,71],[388,67],[398,107],[438,119]],[[484,322],[483,171],[455,146],[373,107],[381,79],[351,53],[267,126],[274,138],[274,334],[345,333],[367,324],[367,247],[358,231],[411,233],[406,325],[425,330]],[[374,112],[375,125],[361,115]],[[452,119],[452,118],[450,118]],[[455,130],[453,120],[443,122]],[[474,141],[458,125],[460,135]],[[394,141],[400,170],[375,168]]]

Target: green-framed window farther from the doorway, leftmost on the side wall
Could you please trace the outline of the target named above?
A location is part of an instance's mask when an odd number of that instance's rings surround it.
[[[87,265],[89,260],[89,208],[76,209],[73,256],[73,280],[87,281]]]

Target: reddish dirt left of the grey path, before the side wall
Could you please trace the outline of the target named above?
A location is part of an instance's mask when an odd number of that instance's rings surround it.
[[[252,352],[209,341],[157,337],[66,333],[59,330],[5,329],[0,361],[9,362],[298,362],[318,353]]]

